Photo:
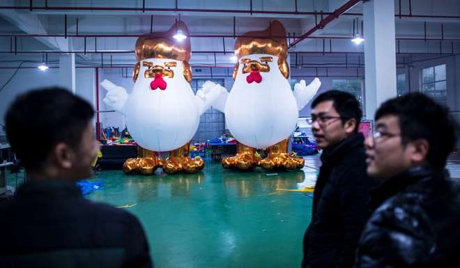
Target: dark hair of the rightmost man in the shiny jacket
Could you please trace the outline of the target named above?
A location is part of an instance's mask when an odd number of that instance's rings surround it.
[[[383,102],[376,111],[376,120],[389,115],[399,119],[403,146],[425,139],[429,143],[428,163],[435,168],[445,166],[458,131],[458,125],[446,107],[422,93],[410,93]]]

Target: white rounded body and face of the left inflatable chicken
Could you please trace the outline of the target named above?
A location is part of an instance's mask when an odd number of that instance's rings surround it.
[[[139,75],[137,78],[126,101],[125,116],[130,134],[139,145],[162,152],[177,149],[192,139],[199,124],[199,107],[190,84],[182,75],[181,61],[146,58],[141,61],[139,73],[155,68],[159,71],[153,72],[153,76],[160,74],[158,77]],[[161,76],[170,70],[174,77]]]

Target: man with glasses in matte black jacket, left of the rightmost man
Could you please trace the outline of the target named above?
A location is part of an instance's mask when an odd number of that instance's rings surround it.
[[[353,267],[376,181],[366,175],[362,111],[350,93],[330,90],[312,102],[312,132],[321,155],[302,267]]]

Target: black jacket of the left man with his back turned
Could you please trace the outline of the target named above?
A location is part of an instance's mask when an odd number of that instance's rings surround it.
[[[0,205],[0,267],[152,267],[137,218],[68,182],[26,182]]]

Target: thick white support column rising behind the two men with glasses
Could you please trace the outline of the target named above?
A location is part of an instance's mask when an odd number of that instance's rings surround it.
[[[374,119],[378,106],[396,97],[396,45],[394,1],[362,3],[365,38],[366,119]]]

